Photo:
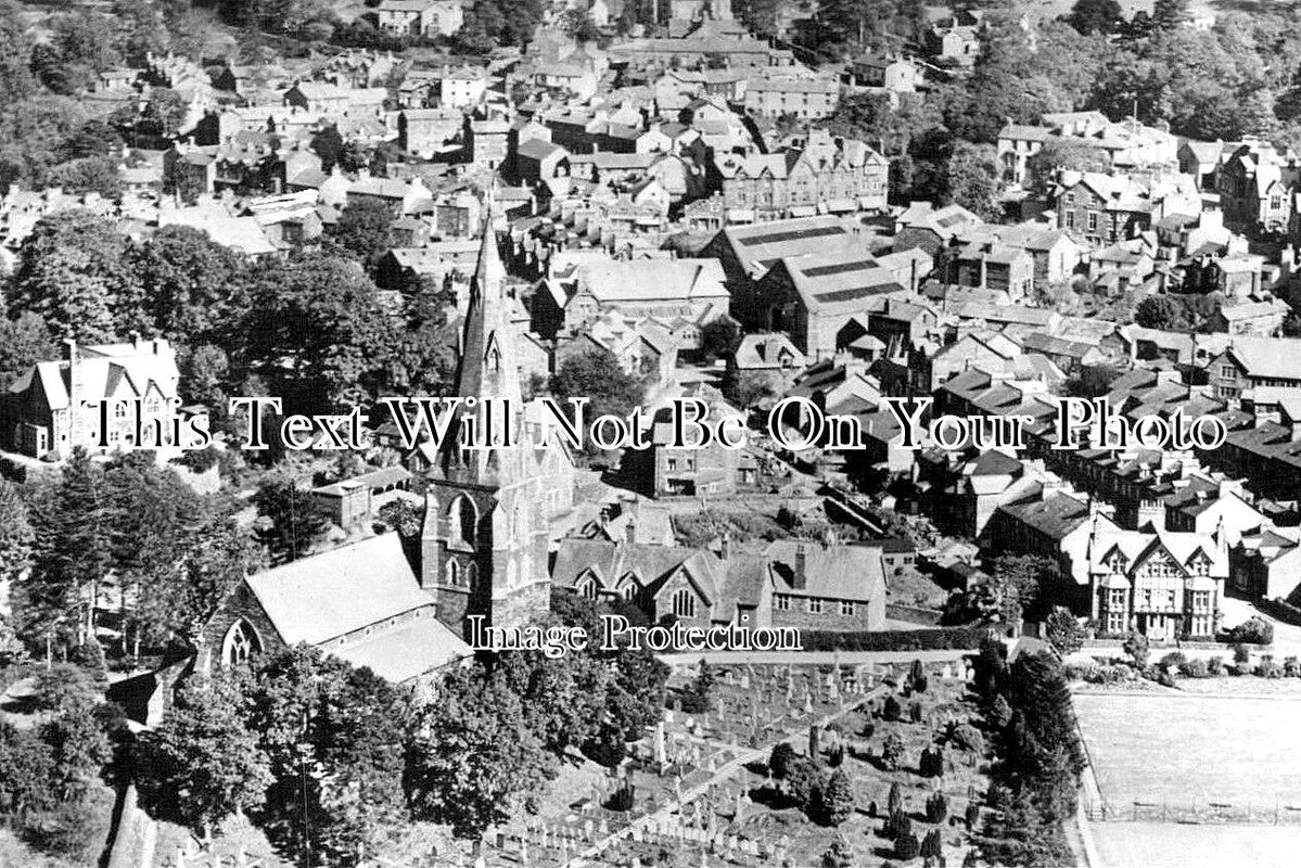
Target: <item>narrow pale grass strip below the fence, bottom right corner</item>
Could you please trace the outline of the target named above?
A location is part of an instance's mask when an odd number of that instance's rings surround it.
[[[1102,864],[1095,868],[1292,868],[1301,829],[1192,826],[1167,822],[1092,822]]]

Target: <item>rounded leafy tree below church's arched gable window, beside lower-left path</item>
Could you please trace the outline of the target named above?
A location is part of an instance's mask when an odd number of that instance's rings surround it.
[[[195,682],[160,726],[141,734],[135,785],[151,816],[211,839],[225,817],[262,807],[271,768],[242,705],[235,682]]]

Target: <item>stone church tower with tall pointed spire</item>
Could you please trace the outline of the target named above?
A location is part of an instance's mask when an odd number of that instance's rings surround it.
[[[457,396],[462,406],[429,468],[420,584],[438,619],[467,635],[468,616],[520,626],[550,608],[546,545],[554,491],[572,497],[572,461],[562,448],[537,449],[524,426],[516,347],[489,200],[461,338]],[[487,401],[490,400],[490,401]],[[509,401],[513,445],[463,449],[457,432],[472,419],[501,426]],[[565,504],[567,506],[567,504]]]

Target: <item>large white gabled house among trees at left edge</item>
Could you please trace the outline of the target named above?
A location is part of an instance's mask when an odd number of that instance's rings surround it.
[[[9,449],[34,458],[66,458],[78,446],[170,454],[189,445],[170,440],[174,424],[183,436],[191,426],[207,428],[206,409],[180,406],[176,350],[165,340],[98,346],[68,340],[65,347],[61,360],[38,362],[4,393],[0,436]]]

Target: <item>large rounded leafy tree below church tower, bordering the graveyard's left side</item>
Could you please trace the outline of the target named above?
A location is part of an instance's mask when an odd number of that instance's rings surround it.
[[[418,819],[476,837],[506,820],[554,773],[520,698],[481,671],[458,670],[416,712],[406,786]]]

